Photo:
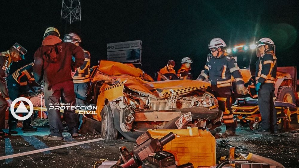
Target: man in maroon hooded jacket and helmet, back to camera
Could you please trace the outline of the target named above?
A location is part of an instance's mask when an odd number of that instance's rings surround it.
[[[69,42],[63,42],[60,34],[54,27],[45,31],[42,46],[34,53],[33,75],[36,83],[44,82],[45,106],[48,111],[50,135],[45,140],[62,140],[63,124],[60,118],[60,110],[51,106],[63,104],[75,106],[76,98],[71,71],[80,67],[84,62],[84,54],[81,47]],[[75,61],[72,61],[72,56]],[[78,118],[75,110],[65,108],[64,118],[68,126],[68,132],[72,137],[78,137]]]

